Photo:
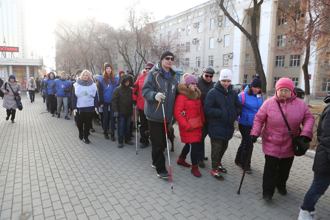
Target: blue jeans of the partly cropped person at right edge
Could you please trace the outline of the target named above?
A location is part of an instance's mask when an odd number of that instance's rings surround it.
[[[313,212],[317,200],[325,193],[330,185],[330,175],[320,175],[314,173],[313,183],[311,188],[307,191],[304,203],[301,206],[302,210]]]

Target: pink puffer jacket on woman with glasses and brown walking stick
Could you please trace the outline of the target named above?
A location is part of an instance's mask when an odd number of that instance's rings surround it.
[[[299,136],[299,127],[302,124],[300,135],[313,137],[314,116],[306,103],[297,98],[296,91],[286,101],[279,99],[275,94],[267,99],[255,115],[250,135],[259,136],[262,131],[262,150],[266,155],[277,158],[293,157],[292,138],[284,122],[281,110],[276,101],[281,104],[282,111],[295,137]]]

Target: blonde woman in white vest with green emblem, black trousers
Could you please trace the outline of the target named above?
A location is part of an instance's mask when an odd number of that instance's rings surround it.
[[[97,87],[92,74],[88,70],[82,71],[81,76],[77,78],[77,82],[73,84],[72,109],[73,114],[77,116],[79,139],[83,139],[86,144],[90,143],[88,134],[94,112],[98,114],[99,99],[96,91]]]

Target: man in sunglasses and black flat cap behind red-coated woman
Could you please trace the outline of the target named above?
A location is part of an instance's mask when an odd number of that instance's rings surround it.
[[[213,86],[215,84],[215,82],[212,81],[214,74],[215,74],[214,69],[210,67],[206,67],[203,69],[202,76],[197,78],[198,81],[197,88],[201,91],[201,102],[203,106],[207,93],[211,89],[213,89]],[[204,114],[204,119],[205,119],[205,124],[202,129],[202,141],[199,143],[198,155],[197,155],[198,166],[200,167],[204,167],[205,166],[204,160],[208,160],[208,158],[205,157],[205,137],[209,133],[210,117]]]

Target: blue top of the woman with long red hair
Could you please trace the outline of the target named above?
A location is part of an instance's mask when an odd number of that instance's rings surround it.
[[[115,82],[111,84],[111,80],[108,79],[108,84],[106,85],[103,82],[103,75],[99,76],[99,83],[98,83],[98,93],[100,99],[100,105],[110,105],[112,100],[112,93],[114,89],[119,86],[119,77],[115,76]]]

